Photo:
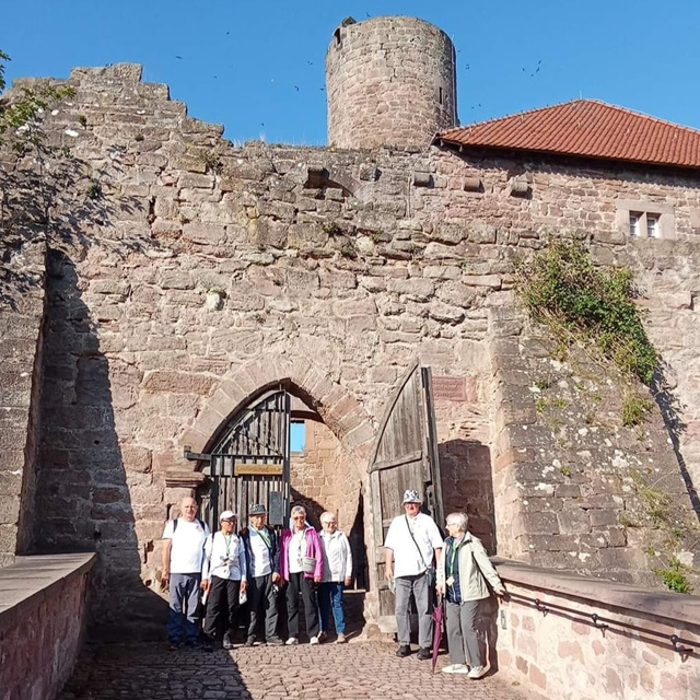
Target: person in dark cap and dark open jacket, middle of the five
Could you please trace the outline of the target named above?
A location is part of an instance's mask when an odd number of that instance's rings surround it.
[[[241,530],[245,546],[248,572],[248,625],[246,646],[253,646],[258,623],[265,620],[265,639],[268,644],[283,644],[277,633],[280,578],[280,550],[275,529],[267,524],[265,505],[252,505],[250,524]]]

